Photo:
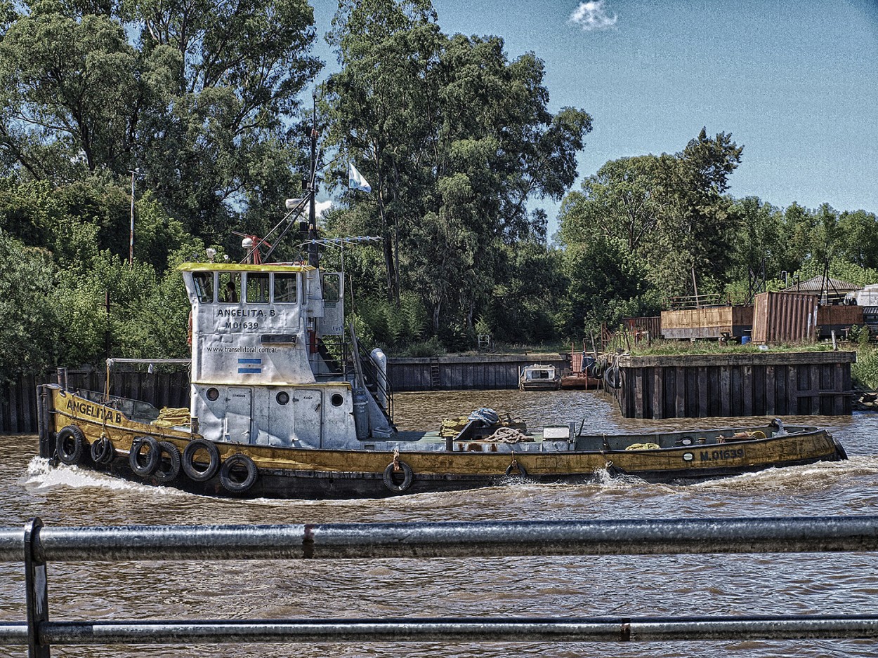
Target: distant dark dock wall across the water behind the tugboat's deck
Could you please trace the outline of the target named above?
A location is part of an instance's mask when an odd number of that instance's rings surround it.
[[[571,368],[570,354],[440,356],[387,360],[393,390],[516,389],[520,368],[534,363]]]

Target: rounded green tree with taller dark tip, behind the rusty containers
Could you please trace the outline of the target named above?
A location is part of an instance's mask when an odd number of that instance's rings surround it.
[[[743,147],[731,136],[696,139],[674,155],[607,162],[565,197],[559,237],[566,247],[623,248],[654,290],[667,296],[720,292],[735,267],[738,216],[730,212],[728,177]]]

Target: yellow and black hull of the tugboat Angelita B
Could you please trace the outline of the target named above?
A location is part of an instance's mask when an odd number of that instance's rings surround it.
[[[713,433],[666,433],[661,440],[680,445],[659,449],[622,449],[620,446],[659,440],[659,435],[577,436],[572,448],[557,449],[557,442],[499,445],[487,440],[455,442],[435,440],[424,449],[415,442],[401,442],[402,449],[345,449],[271,447],[213,441],[219,462],[244,455],[255,467],[255,479],[246,490],[230,490],[221,471],[196,481],[180,472],[170,481],[134,473],[130,453],[137,437],[151,437],[173,444],[181,453],[201,439],[182,428],[163,428],[138,423],[112,407],[45,386],[40,413],[40,454],[53,457],[57,438],[65,428],[75,426],[83,443],[90,447],[102,437],[112,442],[112,461],[97,464],[83,456],[77,465],[104,470],[147,484],[164,484],[193,493],[220,497],[270,498],[356,498],[390,497],[399,494],[475,489],[526,477],[540,483],[584,483],[604,476],[634,476],[647,482],[704,480],[758,471],[764,468],[810,464],[846,459],[844,449],[831,434],[817,428],[772,433],[764,427],[764,439],[729,439]],[[70,430],[67,430],[70,433]],[[677,435],[679,434],[679,437]],[[757,433],[758,434],[758,433]],[[773,434],[769,436],[769,434]],[[737,436],[737,435],[736,435]],[[708,441],[699,443],[698,441]],[[589,441],[600,441],[603,447]],[[448,449],[448,448],[451,449]],[[551,447],[551,450],[543,450]],[[238,458],[241,459],[241,458]]]

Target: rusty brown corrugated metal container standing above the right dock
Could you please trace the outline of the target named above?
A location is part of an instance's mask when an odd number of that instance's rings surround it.
[[[817,295],[801,292],[763,292],[753,308],[754,343],[815,340]]]

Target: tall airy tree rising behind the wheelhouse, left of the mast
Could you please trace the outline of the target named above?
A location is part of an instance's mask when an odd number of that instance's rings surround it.
[[[313,10],[306,0],[132,0],[126,10],[144,55],[171,71],[162,111],[143,126],[148,187],[208,240],[227,238],[237,207],[264,233],[304,171],[292,119],[321,66],[308,55]]]

